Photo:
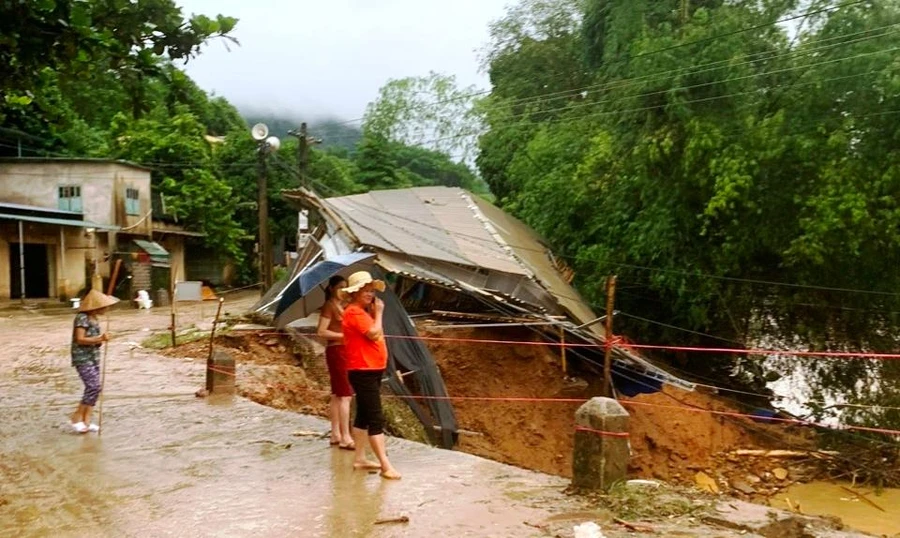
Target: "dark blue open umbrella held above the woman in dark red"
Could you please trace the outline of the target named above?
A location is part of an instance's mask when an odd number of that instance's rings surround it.
[[[303,319],[325,304],[325,287],[328,279],[340,275],[347,278],[356,271],[372,266],[375,254],[353,252],[342,254],[306,268],[285,289],[275,309],[275,325],[281,329],[288,323]]]

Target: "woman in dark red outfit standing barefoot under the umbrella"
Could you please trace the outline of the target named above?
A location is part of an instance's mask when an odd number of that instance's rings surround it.
[[[350,400],[353,399],[353,388],[347,378],[347,359],[344,356],[344,335],[341,332],[341,318],[344,315],[343,301],[338,291],[347,286],[342,276],[335,275],[328,280],[325,288],[325,305],[319,313],[319,326],[316,334],[327,343],[325,362],[328,365],[328,378],[331,381],[331,445],[344,450],[355,450],[353,436],[350,434]]]

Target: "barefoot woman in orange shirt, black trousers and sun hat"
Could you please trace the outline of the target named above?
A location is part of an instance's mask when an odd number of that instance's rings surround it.
[[[381,469],[383,478],[397,480],[400,473],[387,457],[384,439],[384,414],[381,410],[381,378],[387,368],[382,315],[384,303],[375,292],[384,291],[384,282],[366,271],[350,275],[347,287],[350,304],[344,309],[341,329],[350,384],[356,392],[356,418],[353,421],[355,469]],[[371,312],[371,313],[370,313]],[[378,462],[366,459],[366,441]]]

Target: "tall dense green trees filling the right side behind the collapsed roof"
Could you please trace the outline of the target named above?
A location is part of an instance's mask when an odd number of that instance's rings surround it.
[[[895,0],[524,0],[492,26],[479,169],[598,305],[618,275],[636,340],[894,350],[898,23]],[[760,391],[797,367],[761,358],[670,360]],[[813,400],[900,404],[896,361],[801,362]]]

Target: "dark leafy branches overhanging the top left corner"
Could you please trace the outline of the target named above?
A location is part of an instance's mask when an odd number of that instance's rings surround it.
[[[156,58],[193,57],[237,19],[193,15],[173,0],[37,0],[0,3],[0,84],[7,98],[27,97],[45,68],[74,74],[98,60],[115,70],[155,74]]]

